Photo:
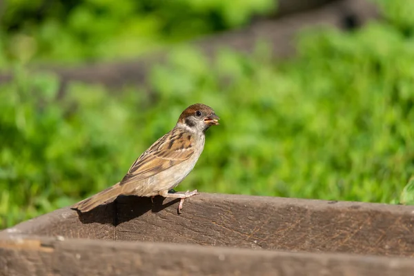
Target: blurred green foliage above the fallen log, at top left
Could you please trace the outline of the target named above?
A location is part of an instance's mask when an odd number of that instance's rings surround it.
[[[0,32],[19,61],[134,57],[270,12],[274,0],[6,0]]]

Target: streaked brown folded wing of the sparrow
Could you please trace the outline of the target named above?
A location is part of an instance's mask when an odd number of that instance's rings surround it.
[[[120,186],[134,183],[171,168],[194,154],[193,135],[180,128],[174,128],[155,141],[132,164]]]

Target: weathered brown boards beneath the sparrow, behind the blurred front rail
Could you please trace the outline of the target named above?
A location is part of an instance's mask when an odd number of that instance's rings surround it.
[[[414,256],[414,206],[206,193],[186,199],[181,215],[177,204],[119,197],[79,217],[64,208],[3,234]]]

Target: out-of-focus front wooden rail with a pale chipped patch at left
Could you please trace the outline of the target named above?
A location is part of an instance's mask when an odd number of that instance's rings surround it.
[[[0,275],[412,276],[400,257],[286,253],[146,242],[0,238]]]

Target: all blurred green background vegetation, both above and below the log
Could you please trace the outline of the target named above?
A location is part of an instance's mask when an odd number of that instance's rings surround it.
[[[14,79],[0,83],[0,228],[115,184],[196,102],[221,125],[177,190],[412,203],[414,1],[375,3],[382,20],[306,30],[290,59],[259,45],[211,61],[170,46],[245,26],[275,2],[3,1],[0,72]],[[166,48],[146,86],[72,81],[58,97],[57,75],[28,71]]]

